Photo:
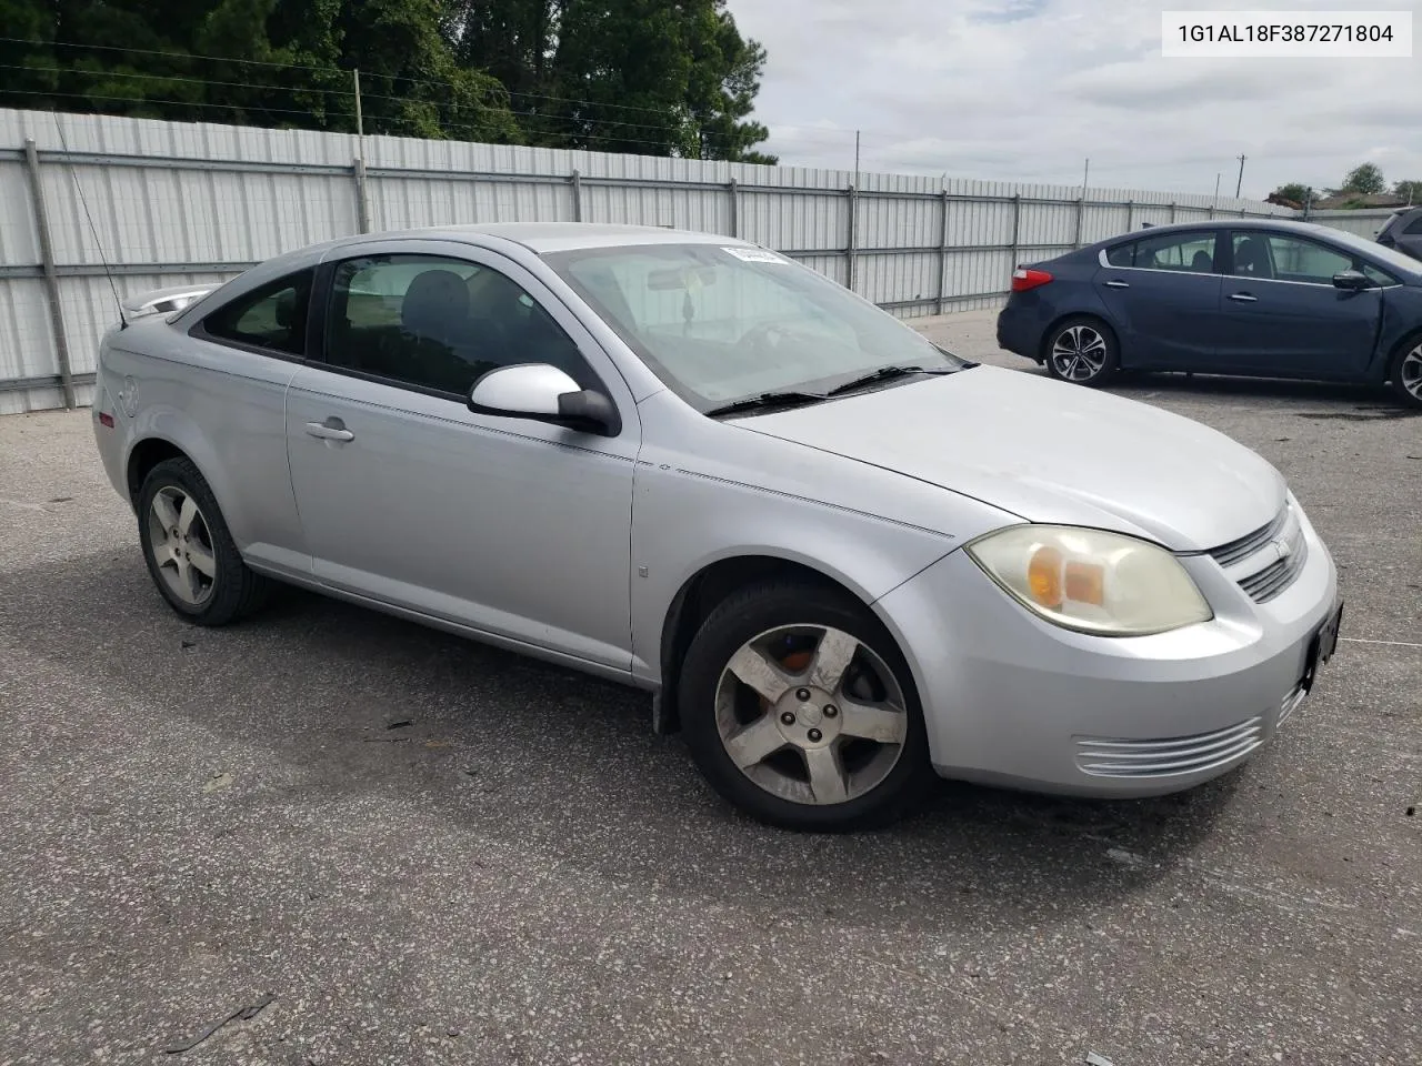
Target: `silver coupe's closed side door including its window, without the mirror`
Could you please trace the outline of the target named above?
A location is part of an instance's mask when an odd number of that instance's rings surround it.
[[[316,578],[530,650],[631,665],[640,425],[606,352],[523,267],[387,242],[326,267],[320,362],[287,391],[292,482]],[[552,362],[619,408],[606,438],[472,414],[495,367]]]

